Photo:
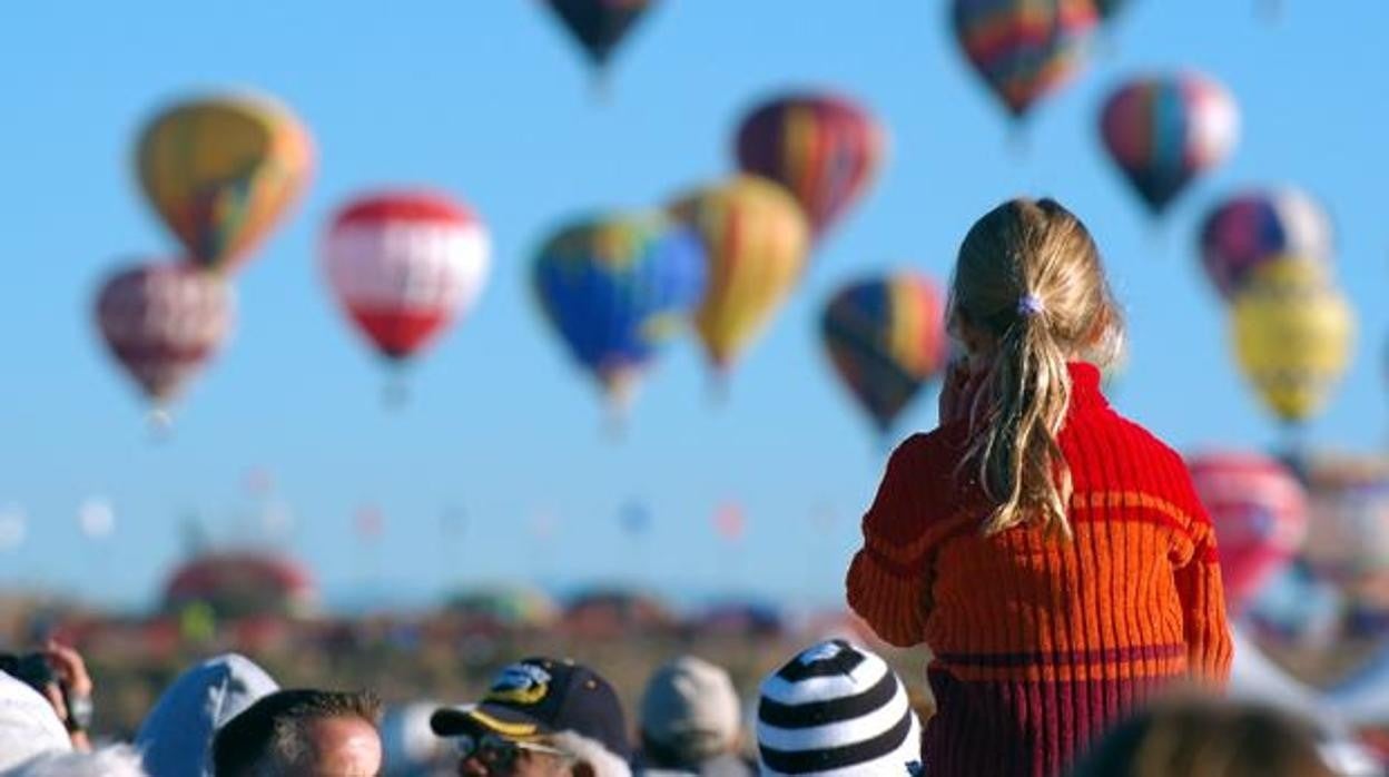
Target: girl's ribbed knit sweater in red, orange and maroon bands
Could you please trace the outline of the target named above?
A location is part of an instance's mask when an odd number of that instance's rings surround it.
[[[1215,538],[1182,459],[1110,409],[1093,366],[1071,379],[1074,539],[981,534],[964,423],[903,442],[864,516],[849,605],[932,652],[932,777],[1061,774],[1154,689],[1229,674]]]

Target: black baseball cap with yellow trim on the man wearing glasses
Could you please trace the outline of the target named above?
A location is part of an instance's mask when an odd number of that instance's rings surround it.
[[[504,667],[482,701],[440,708],[429,717],[440,737],[494,733],[508,739],[535,739],[574,731],[626,759],[622,703],[596,671],[571,660],[529,657]]]

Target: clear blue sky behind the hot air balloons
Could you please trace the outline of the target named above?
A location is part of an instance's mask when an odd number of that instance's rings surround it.
[[[219,542],[288,548],[333,596],[418,600],[524,577],[838,602],[883,452],[829,373],[818,309],[865,272],[943,279],[972,220],[1018,193],[1057,196],[1092,227],[1131,321],[1115,403],[1182,449],[1283,442],[1229,361],[1225,313],[1193,250],[1201,213],[1247,183],[1314,193],[1336,222],[1360,336],[1307,439],[1382,446],[1389,4],[1293,0],[1276,24],[1254,0],[1131,6],[1085,75],[1035,113],[1020,153],[942,1],[667,0],[619,53],[606,101],[539,3],[25,4],[0,28],[0,507],[22,509],[28,535],[0,552],[0,584],[143,606],[181,555],[181,524],[199,516]],[[1226,83],[1245,132],[1153,225],[1103,158],[1096,113],[1125,75],[1176,67]],[[189,392],[174,438],[151,445],[89,306],[124,257],[174,246],[133,185],[140,124],[165,100],[222,86],[293,106],[319,167],[240,275],[235,339]],[[731,400],[710,402],[699,352],[676,343],[614,443],[529,297],[532,252],[567,217],[660,204],[721,177],[743,110],[815,86],[881,117],[886,170],[747,354]],[[315,247],[339,202],[394,183],[472,204],[494,272],[474,316],[413,371],[410,404],[388,413],[379,364],[331,304]],[[903,434],[933,425],[933,399]],[[267,500],[243,485],[251,468],[271,473],[289,531],[265,531]],[[117,514],[100,543],[76,524],[93,495]],[[640,538],[622,534],[631,500],[651,514]],[[729,500],[747,516],[738,545],[711,528]],[[363,505],[385,516],[369,546],[353,532]],[[446,514],[465,514],[465,530],[443,532]],[[553,524],[549,539],[538,523]]]

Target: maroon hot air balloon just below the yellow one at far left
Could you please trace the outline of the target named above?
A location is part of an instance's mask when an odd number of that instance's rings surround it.
[[[106,281],[96,321],[107,349],[160,413],[226,339],[232,292],[186,264],[143,264]]]

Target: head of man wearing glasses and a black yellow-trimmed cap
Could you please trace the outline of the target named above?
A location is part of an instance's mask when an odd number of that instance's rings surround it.
[[[458,773],[507,777],[629,777],[626,721],[613,687],[568,660],[503,669],[475,705],[429,720],[458,748]]]

